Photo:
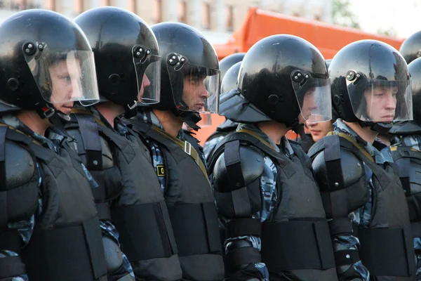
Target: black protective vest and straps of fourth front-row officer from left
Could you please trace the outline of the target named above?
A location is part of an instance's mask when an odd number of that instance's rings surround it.
[[[239,148],[250,145],[258,148],[262,157],[268,156],[277,170],[276,189],[279,201],[273,214],[264,223],[253,218],[233,219],[227,224],[227,237],[254,235],[261,237],[261,261],[269,270],[270,280],[338,280],[328,221],[323,210],[319,189],[314,181],[309,158],[300,145],[291,142],[295,155],[291,159],[276,152],[253,131],[243,129],[225,137],[215,149],[210,170],[222,152],[231,185],[245,186]],[[260,188],[259,188],[260,190]],[[216,190],[214,191],[216,192]],[[232,192],[233,202],[246,202],[243,192]],[[234,204],[234,212],[241,213],[244,206]],[[238,209],[238,210],[236,210]],[[253,254],[239,255],[237,264],[258,263]]]

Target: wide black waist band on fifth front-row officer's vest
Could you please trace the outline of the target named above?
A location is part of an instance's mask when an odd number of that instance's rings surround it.
[[[410,276],[414,259],[409,228],[360,228],[359,255],[363,265],[375,276]]]

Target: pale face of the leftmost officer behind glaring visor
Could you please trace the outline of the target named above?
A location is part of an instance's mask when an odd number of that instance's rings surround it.
[[[81,68],[78,59],[57,60],[49,67],[51,83],[51,103],[56,110],[69,115],[74,102],[81,96]]]

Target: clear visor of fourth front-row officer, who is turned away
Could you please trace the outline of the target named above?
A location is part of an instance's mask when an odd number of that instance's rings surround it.
[[[332,119],[330,79],[313,78],[300,70],[291,73],[291,81],[305,121],[317,123]]]

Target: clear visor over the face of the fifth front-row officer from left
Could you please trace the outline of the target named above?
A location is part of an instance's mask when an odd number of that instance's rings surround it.
[[[354,115],[361,121],[390,123],[413,119],[410,80],[347,79]]]

